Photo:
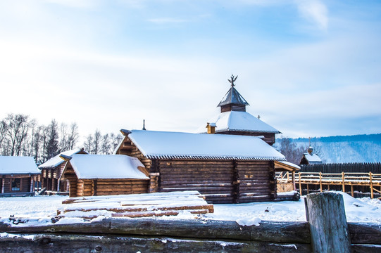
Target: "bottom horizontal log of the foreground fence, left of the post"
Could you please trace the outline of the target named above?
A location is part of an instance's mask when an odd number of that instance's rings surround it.
[[[30,234],[0,238],[4,252],[309,252],[309,245],[192,238]]]

